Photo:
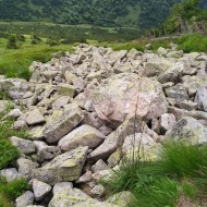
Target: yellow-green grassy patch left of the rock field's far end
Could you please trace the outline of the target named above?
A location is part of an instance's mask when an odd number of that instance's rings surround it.
[[[44,42],[38,45],[25,42],[20,49],[5,49],[4,44],[0,46],[0,74],[25,80],[31,77],[28,68],[33,61],[47,62],[53,52],[72,50],[72,45],[50,47]]]

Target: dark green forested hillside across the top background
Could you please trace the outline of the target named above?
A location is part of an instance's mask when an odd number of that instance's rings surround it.
[[[0,0],[1,21],[46,21],[147,28],[181,0]]]

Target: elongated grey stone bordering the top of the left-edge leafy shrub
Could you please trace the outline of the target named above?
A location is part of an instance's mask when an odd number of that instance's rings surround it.
[[[16,146],[17,149],[25,155],[35,153],[35,145],[32,141],[19,138],[16,136],[10,137],[10,141],[12,145]]]

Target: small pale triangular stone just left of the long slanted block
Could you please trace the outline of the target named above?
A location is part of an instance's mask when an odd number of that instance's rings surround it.
[[[26,118],[26,122],[28,125],[37,125],[46,122],[44,115],[40,113],[38,109],[31,111]]]

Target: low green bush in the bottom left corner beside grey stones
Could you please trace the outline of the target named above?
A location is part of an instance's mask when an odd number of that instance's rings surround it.
[[[29,186],[25,179],[14,180],[10,183],[7,183],[5,179],[0,180],[0,193],[11,200],[15,200],[28,188]]]

